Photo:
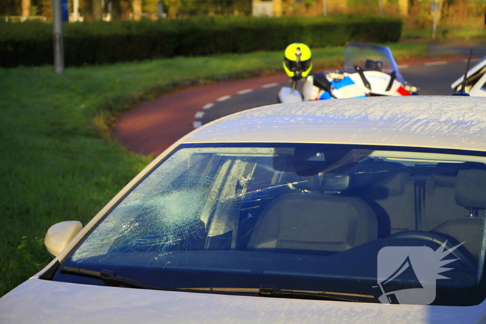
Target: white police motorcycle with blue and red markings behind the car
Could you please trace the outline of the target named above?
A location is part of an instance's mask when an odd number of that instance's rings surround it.
[[[296,89],[299,81],[299,56],[292,65],[292,87],[278,92],[281,103],[365,96],[410,96],[419,89],[407,83],[400,73],[392,51],[386,46],[349,42],[344,47],[344,67],[337,71],[312,73],[305,77],[302,94]],[[288,59],[287,59],[288,60]],[[285,68],[285,62],[284,62]],[[290,75],[287,72],[287,75]]]

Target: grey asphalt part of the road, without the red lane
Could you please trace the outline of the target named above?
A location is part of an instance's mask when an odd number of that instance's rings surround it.
[[[474,65],[473,60],[471,67]],[[412,85],[419,87],[421,95],[449,95],[453,91],[451,83],[457,80],[466,68],[464,60],[447,61],[440,60],[435,62],[423,62],[419,65],[400,65],[403,78]],[[301,89],[303,81],[299,83]],[[290,87],[288,83],[272,83],[257,89],[248,89],[236,94],[228,94],[228,98],[223,101],[215,101],[209,110],[203,114],[196,115],[196,120],[201,124],[208,123],[219,117],[240,112],[242,110],[259,107],[262,105],[272,105],[278,103],[278,91],[280,87]],[[251,91],[250,91],[251,90]],[[199,119],[197,118],[199,117]],[[196,126],[198,125],[196,121]]]

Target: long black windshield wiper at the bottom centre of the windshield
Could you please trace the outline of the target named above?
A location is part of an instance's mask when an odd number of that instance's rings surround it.
[[[276,286],[262,285],[260,288],[231,288],[231,287],[197,287],[197,288],[178,288],[181,291],[193,292],[215,292],[215,293],[252,293],[265,297],[284,297],[284,298],[308,298],[320,300],[337,300],[344,302],[370,302],[376,300],[372,295],[360,293],[338,293],[331,291],[308,291],[308,290],[287,290],[279,289]]]

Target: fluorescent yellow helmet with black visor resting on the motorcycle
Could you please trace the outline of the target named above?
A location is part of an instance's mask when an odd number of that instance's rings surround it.
[[[303,43],[290,44],[283,56],[283,69],[290,78],[305,78],[312,69],[311,58],[309,46]]]

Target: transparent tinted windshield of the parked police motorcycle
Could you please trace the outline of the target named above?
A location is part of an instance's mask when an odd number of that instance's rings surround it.
[[[396,80],[403,83],[403,76],[396,65],[392,51],[387,46],[349,42],[344,47],[343,72],[355,73],[355,66],[364,70],[382,71],[386,74],[396,73]]]

